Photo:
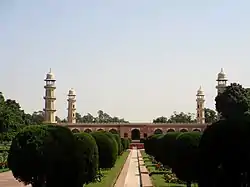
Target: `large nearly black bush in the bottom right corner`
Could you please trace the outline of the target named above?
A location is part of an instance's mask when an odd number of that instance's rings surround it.
[[[245,118],[220,120],[205,129],[199,144],[200,186],[242,186],[242,174],[250,174],[249,133]]]

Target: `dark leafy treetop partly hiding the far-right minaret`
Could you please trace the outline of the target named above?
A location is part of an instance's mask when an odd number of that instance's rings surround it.
[[[216,110],[225,119],[240,119],[250,109],[249,91],[237,83],[227,86],[215,101]]]

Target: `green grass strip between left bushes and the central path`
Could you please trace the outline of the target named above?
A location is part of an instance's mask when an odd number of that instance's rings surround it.
[[[116,179],[118,178],[123,165],[125,164],[129,151],[125,151],[116,161],[115,166],[110,170],[103,170],[102,174],[104,177],[101,182],[90,183],[84,185],[84,187],[113,187],[115,185]]]

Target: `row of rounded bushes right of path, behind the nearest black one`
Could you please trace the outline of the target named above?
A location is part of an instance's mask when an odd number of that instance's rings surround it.
[[[172,168],[179,179],[190,185],[198,178],[199,132],[154,134],[145,139],[145,152],[165,167]]]

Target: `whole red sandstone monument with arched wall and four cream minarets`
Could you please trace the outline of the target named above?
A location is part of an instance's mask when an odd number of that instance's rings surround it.
[[[73,132],[92,132],[92,131],[110,131],[119,133],[121,137],[132,139],[144,138],[154,133],[167,133],[173,131],[203,131],[209,124],[205,123],[205,94],[201,87],[196,93],[196,123],[77,123],[76,122],[76,92],[70,89],[68,92],[68,117],[67,123],[57,123],[55,108],[55,90],[56,79],[54,74],[49,71],[45,78],[45,107],[44,123],[67,126]],[[217,93],[221,93],[227,86],[227,78],[223,69],[217,77]]]

